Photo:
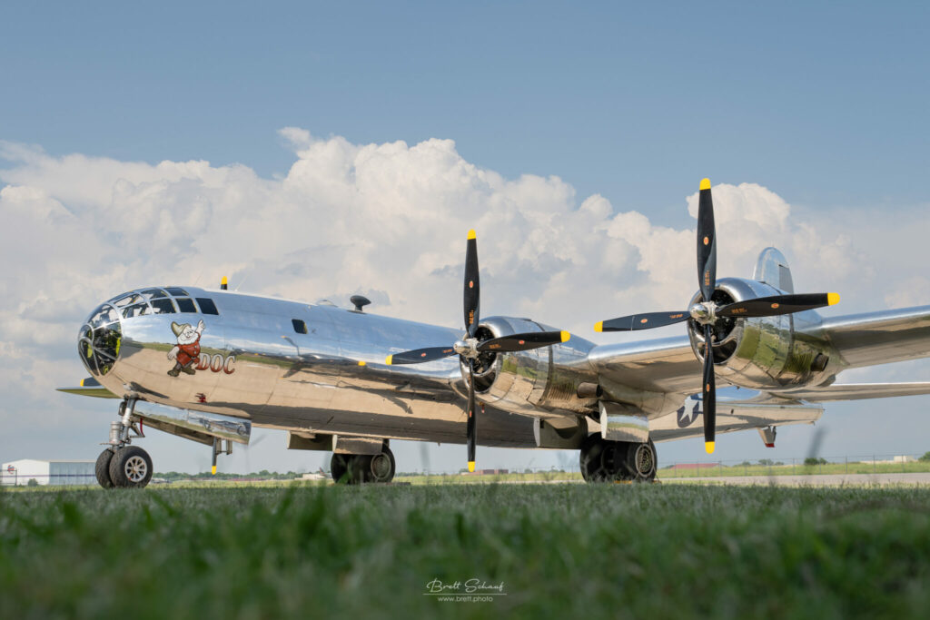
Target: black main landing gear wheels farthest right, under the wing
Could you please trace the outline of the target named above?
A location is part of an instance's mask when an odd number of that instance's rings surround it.
[[[581,477],[586,482],[651,482],[656,480],[656,446],[608,442],[599,434],[581,444]]]

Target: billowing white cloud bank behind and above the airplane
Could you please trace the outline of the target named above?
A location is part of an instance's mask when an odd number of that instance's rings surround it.
[[[54,157],[0,142],[0,423],[83,376],[81,320],[146,284],[213,286],[229,275],[244,291],[339,304],[363,292],[371,311],[457,325],[474,228],[485,314],[591,337],[596,320],[680,308],[697,287],[697,191],[686,198],[691,218],[683,208],[683,228],[671,229],[600,195],[580,198],[561,178],[503,178],[448,139],[358,145],[280,133],[297,160],[276,179],[244,165]],[[930,233],[923,213],[799,220],[760,185],[713,191],[720,275],[750,276],[775,244],[800,291],[840,290],[873,308],[930,303],[925,260],[910,260]]]

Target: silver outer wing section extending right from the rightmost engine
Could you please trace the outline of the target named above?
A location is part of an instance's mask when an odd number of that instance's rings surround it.
[[[820,334],[847,368],[930,356],[930,306],[826,318]]]

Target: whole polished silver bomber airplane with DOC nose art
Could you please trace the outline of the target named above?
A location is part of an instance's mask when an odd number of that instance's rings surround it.
[[[470,231],[464,331],[321,302],[193,286],[145,287],[90,313],[78,354],[90,377],[62,391],[117,399],[97,462],[103,487],[145,486],[134,441],[159,429],[218,455],[254,427],[294,450],[332,452],[335,481],[388,482],[391,440],[578,450],[586,481],[652,481],[656,442],[813,424],[824,402],[930,393],[930,383],[840,384],[849,368],[930,356],[930,306],[823,318],[833,293],[796,295],[785,257],[763,250],[751,279],[716,278],[711,182],[700,186],[698,292],[687,310],[595,325],[685,323],[683,336],[595,345],[544,323],[480,316]],[[706,355],[707,343],[711,355]],[[411,347],[422,349],[410,350]],[[725,384],[716,388],[717,378]]]

